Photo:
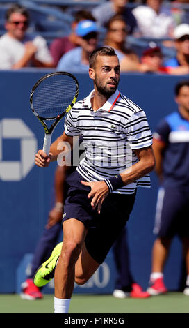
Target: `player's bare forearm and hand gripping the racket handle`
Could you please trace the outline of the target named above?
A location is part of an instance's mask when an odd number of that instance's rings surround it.
[[[52,144],[49,151],[49,155],[44,153],[42,149],[38,150],[38,153],[35,155],[35,165],[39,167],[48,167],[49,163],[56,161],[58,155],[65,151],[65,149],[72,150],[73,147],[73,137],[70,137],[63,133],[60,135]]]

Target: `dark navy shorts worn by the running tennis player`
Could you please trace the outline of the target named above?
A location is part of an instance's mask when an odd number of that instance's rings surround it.
[[[69,218],[76,218],[83,222],[88,228],[85,246],[92,258],[101,264],[126,221],[129,220],[135,194],[110,193],[102,204],[101,213],[98,214],[97,209],[92,209],[88,193],[87,190],[73,186],[69,188],[65,200],[63,222]]]

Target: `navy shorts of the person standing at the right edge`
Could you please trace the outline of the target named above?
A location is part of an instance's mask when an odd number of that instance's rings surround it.
[[[158,237],[189,237],[189,193],[181,187],[159,188],[154,233]]]

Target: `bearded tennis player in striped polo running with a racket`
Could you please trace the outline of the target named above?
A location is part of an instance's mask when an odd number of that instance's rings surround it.
[[[65,132],[49,156],[42,150],[35,155],[36,165],[48,167],[60,154],[60,142],[72,145],[74,136],[83,135],[85,157],[67,178],[63,243],[34,278],[40,287],[54,276],[54,313],[68,313],[74,281],[86,283],[104,262],[129,219],[136,188],[150,186],[155,165],[145,112],[117,89],[120,64],[113,48],[90,54],[89,77],[94,90],[67,114]]]

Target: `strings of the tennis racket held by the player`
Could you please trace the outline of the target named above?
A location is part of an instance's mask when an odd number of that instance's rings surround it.
[[[44,80],[33,94],[35,112],[46,119],[57,117],[72,103],[76,82],[72,77],[54,77]]]

